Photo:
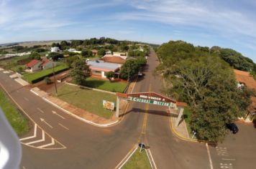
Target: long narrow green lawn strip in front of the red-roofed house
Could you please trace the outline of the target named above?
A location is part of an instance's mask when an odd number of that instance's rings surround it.
[[[60,72],[64,69],[67,69],[68,67],[65,64],[60,64],[57,67],[55,67],[55,72]],[[50,76],[52,74],[53,70],[52,69],[44,69],[40,72],[35,72],[31,74],[25,74],[22,78],[24,80],[27,80],[29,83],[35,83],[39,82],[40,80],[43,79],[43,77]],[[38,79],[38,80],[37,80]]]

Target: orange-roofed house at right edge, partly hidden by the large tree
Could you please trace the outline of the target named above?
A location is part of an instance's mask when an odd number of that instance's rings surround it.
[[[241,88],[242,86],[246,86],[251,90],[256,91],[256,81],[253,79],[252,75],[249,72],[244,72],[241,70],[234,69],[234,75],[237,79],[237,87]],[[252,104],[247,107],[247,116],[245,117],[245,121],[251,121],[256,114],[256,97],[251,97]]]

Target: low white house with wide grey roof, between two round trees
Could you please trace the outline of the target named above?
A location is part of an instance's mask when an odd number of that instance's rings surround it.
[[[106,78],[106,72],[118,72],[122,64],[108,63],[103,61],[88,61],[93,76]]]

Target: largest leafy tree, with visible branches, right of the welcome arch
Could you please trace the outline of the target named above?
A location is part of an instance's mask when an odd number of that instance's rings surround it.
[[[191,107],[190,125],[198,139],[224,140],[225,124],[242,117],[250,105],[250,95],[237,89],[232,69],[209,55],[182,59],[171,66],[168,61],[164,59],[158,67],[170,84],[166,92]]]

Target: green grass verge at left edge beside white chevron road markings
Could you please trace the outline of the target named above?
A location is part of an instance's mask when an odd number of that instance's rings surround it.
[[[12,101],[7,97],[3,90],[0,89],[0,107],[4,111],[4,115],[17,132],[17,135],[24,135],[29,131],[28,120],[19,112]]]

